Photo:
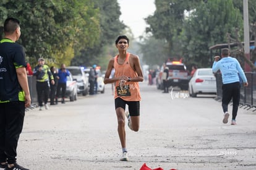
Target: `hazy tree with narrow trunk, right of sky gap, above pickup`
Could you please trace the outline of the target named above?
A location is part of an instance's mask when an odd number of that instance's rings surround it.
[[[150,27],[146,28],[146,32],[151,32],[156,39],[166,40],[169,48],[167,55],[177,55],[177,51],[174,49],[174,38],[182,32],[185,17],[184,11],[194,9],[198,1],[155,1],[156,11],[145,19],[148,25],[150,25]]]

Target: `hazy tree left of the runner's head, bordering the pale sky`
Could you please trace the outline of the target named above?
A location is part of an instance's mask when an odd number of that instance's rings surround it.
[[[113,45],[115,38],[125,28],[124,23],[120,22],[121,15],[117,0],[94,1],[95,9],[100,11],[100,28],[99,40],[93,46],[84,46],[80,49],[72,60],[72,65],[92,66],[98,64],[105,67],[108,64],[109,53],[108,46]]]

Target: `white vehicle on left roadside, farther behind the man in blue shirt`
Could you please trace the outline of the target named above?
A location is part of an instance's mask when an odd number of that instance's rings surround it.
[[[88,95],[89,81],[87,75],[83,72],[83,68],[79,66],[69,66],[67,69],[73,75],[74,80],[77,81],[77,93],[83,96]]]

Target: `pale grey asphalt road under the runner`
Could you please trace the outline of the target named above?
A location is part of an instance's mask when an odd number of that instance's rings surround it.
[[[139,170],[256,169],[256,111],[239,108],[237,125],[223,124],[213,96],[161,93],[140,83],[140,130],[126,125],[129,161],[121,145],[111,85],[104,94],[27,111],[17,161],[25,168]],[[231,106],[230,109],[231,111]]]

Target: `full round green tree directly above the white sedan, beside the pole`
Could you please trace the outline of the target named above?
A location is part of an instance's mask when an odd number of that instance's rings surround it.
[[[200,67],[210,67],[208,48],[226,42],[226,34],[236,29],[242,31],[242,15],[232,0],[201,2],[185,22],[185,57]]]

